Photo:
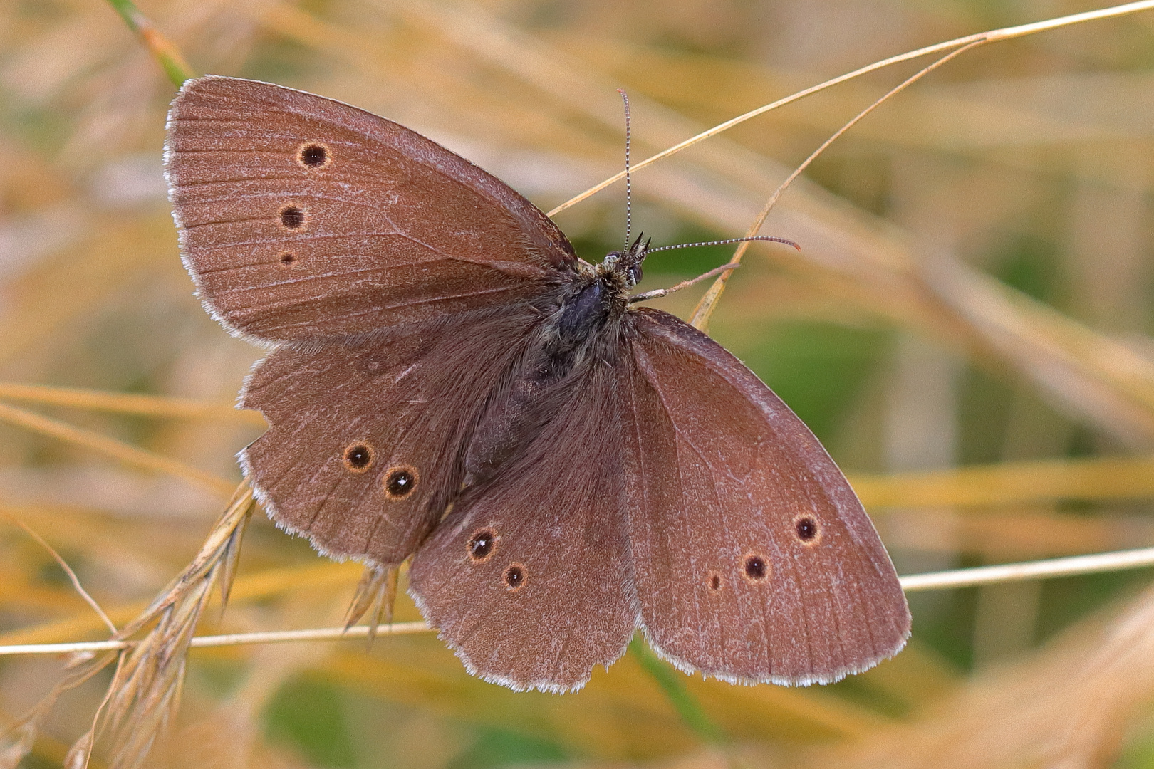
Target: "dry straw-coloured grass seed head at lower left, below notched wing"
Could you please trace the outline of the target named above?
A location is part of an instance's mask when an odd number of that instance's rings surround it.
[[[174,716],[189,643],[213,587],[220,587],[222,608],[227,602],[254,506],[253,491],[242,483],[193,561],[148,609],[113,635],[113,640],[128,640],[155,623],[142,639],[119,653],[73,656],[68,672],[48,695],[0,734],[0,769],[14,768],[31,751],[40,724],[60,694],[112,662],[117,662],[117,669],[105,700],[92,726],[72,746],[65,766],[69,769],[88,766],[102,730],[111,739],[112,767],[141,766],[157,736]]]

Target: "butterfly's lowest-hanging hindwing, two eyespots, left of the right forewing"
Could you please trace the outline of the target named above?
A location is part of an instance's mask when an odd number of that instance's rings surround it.
[[[637,626],[617,398],[602,364],[516,460],[413,557],[410,593],[470,673],[580,688]]]

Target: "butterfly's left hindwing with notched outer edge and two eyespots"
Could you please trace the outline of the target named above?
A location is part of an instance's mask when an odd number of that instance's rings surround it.
[[[472,312],[262,361],[241,455],[267,512],[323,553],[399,564],[460,487],[463,446],[537,316]]]

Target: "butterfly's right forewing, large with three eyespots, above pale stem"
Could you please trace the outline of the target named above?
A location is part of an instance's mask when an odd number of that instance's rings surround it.
[[[845,476],[704,333],[630,312],[624,475],[642,623],[685,671],[837,680],[896,654],[905,595]]]

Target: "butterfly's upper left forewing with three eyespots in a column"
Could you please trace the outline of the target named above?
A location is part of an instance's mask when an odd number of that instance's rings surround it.
[[[355,334],[533,297],[577,263],[561,231],[496,178],[312,93],[188,81],[165,159],[207,308],[260,339]]]

